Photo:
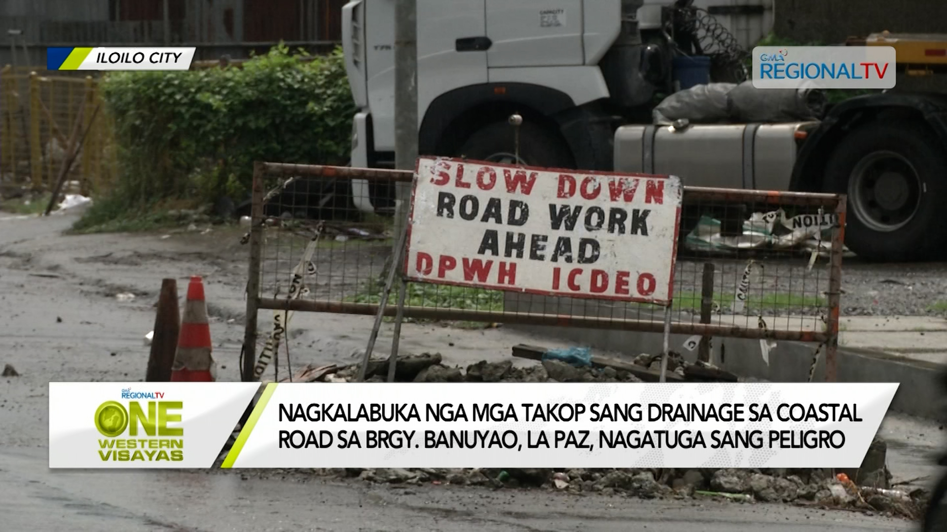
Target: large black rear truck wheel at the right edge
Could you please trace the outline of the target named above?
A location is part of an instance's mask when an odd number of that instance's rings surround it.
[[[947,159],[910,123],[871,124],[839,143],[826,166],[830,192],[848,194],[845,240],[875,261],[937,257],[947,244]]]

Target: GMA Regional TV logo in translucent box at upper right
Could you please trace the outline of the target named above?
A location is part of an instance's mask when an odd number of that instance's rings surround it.
[[[892,46],[757,46],[758,89],[890,89],[897,78]]]

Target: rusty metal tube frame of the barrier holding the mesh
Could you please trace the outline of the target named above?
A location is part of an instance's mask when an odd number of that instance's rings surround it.
[[[377,315],[379,305],[366,303],[348,303],[341,301],[313,301],[304,299],[277,299],[261,297],[259,293],[261,246],[262,246],[262,203],[264,175],[318,176],[337,179],[387,180],[408,183],[413,181],[414,172],[383,168],[344,168],[321,165],[293,165],[282,163],[256,163],[254,166],[253,207],[251,216],[250,267],[247,283],[246,330],[244,332],[243,376],[252,379],[256,360],[257,312],[258,310],[294,310],[303,312],[333,312],[358,315]],[[766,190],[740,190],[703,186],[685,186],[684,204],[692,202],[732,202],[780,205],[820,205],[826,211],[833,212],[839,224],[832,230],[830,277],[828,296],[828,316],[826,330],[787,330],[778,328],[749,328],[741,326],[713,325],[700,323],[672,322],[670,332],[703,336],[721,336],[747,339],[769,339],[777,341],[797,341],[818,343],[826,346],[826,381],[835,381],[836,352],[838,346],[839,309],[841,295],[842,255],[845,235],[846,197],[845,195],[777,192]],[[610,330],[634,330],[640,332],[663,332],[660,321],[599,318],[592,316],[557,315],[533,312],[505,312],[487,310],[461,310],[431,307],[404,306],[402,309],[387,305],[385,316],[395,316],[400,310],[403,318],[476,321],[495,323],[515,323],[531,326],[580,327]],[[247,377],[249,376],[249,377]]]

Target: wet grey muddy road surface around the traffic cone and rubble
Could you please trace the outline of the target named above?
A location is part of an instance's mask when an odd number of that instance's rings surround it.
[[[48,470],[47,382],[143,379],[148,349],[142,337],[152,328],[162,277],[178,278],[183,294],[188,275],[205,275],[219,379],[238,379],[246,251],[236,230],[167,239],[67,237],[61,232],[74,214],[3,216],[0,365],[12,364],[21,376],[0,380],[2,530],[913,529],[898,520],[786,505],[642,501],[541,490],[397,489],[299,476],[265,479],[240,471]],[[116,293],[135,297],[119,301]],[[370,323],[365,317],[300,315],[294,319],[294,366],[350,362],[364,348]],[[556,346],[503,328],[415,324],[405,327],[402,346],[437,350],[448,364],[465,364],[508,358],[509,346],[523,342]],[[379,346],[384,345],[383,336]],[[898,465],[896,477],[929,473],[929,455],[940,445],[937,427],[899,418],[885,426],[894,442],[889,461]]]

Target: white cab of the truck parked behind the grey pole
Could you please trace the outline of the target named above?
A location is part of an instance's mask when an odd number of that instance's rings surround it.
[[[681,4],[682,2],[677,2]],[[684,2],[689,3],[689,2]],[[673,0],[418,0],[421,154],[553,168],[612,169],[622,123],[647,121],[670,92]],[[752,45],[772,0],[698,1]],[[712,6],[710,4],[713,4]],[[351,164],[394,164],[394,0],[343,9],[348,80],[359,112]],[[524,117],[514,153],[509,115]],[[356,186],[367,186],[357,184]],[[359,207],[388,206],[383,191]],[[363,199],[365,198],[365,199]]]

